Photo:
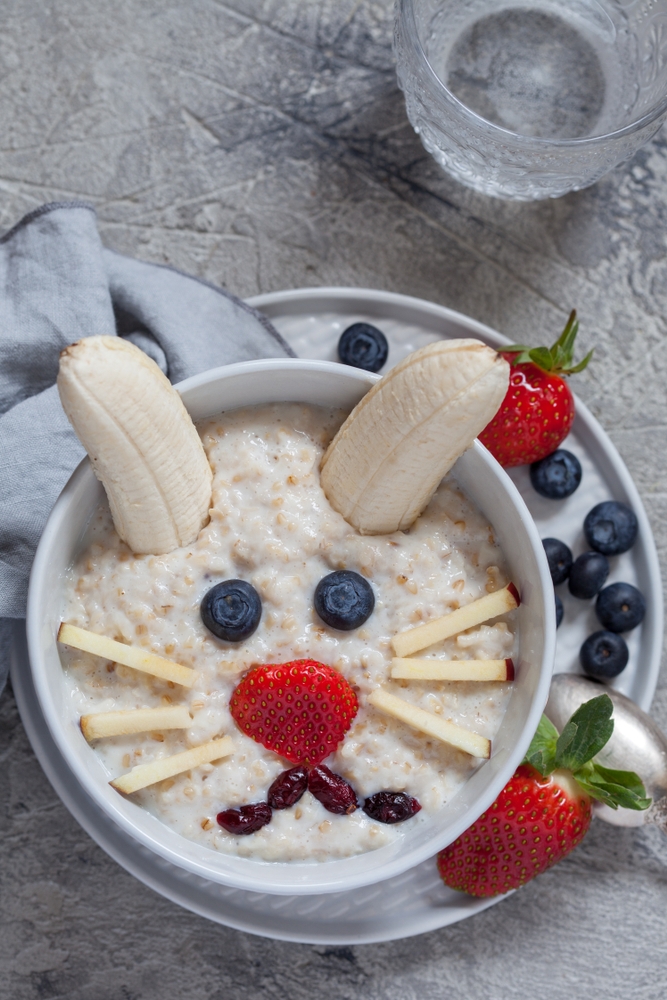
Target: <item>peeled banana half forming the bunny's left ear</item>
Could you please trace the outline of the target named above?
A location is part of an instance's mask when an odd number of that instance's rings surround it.
[[[58,391],[133,552],[190,545],[208,520],[212,473],[181,397],[120,337],[87,337],[60,355]]]

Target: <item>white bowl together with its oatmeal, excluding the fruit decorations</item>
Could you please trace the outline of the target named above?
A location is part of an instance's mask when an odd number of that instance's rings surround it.
[[[84,460],[49,518],[33,567],[28,643],[35,687],[68,766],[110,822],[194,875],[246,890],[321,893],[405,871],[451,843],[497,796],[539,721],[551,677],[553,588],[518,492],[479,444],[459,459],[407,532],[359,535],[326,500],[319,463],[344,417],[377,376],[329,362],[270,359],[230,365],[179,386],[213,469],[211,518],[191,546],[137,556],[120,541],[104,491]],[[370,583],[363,626],[338,631],[313,595],[350,569]],[[256,631],[217,639],[201,620],[216,582],[243,579],[260,595]],[[445,639],[427,657],[512,658],[512,682],[392,680],[391,640],[509,582],[521,605]],[[191,688],[56,643],[61,621],[171,658],[196,671]],[[395,825],[359,808],[336,815],[310,793],[251,836],[217,814],[266,798],[290,765],[244,735],[230,697],[256,664],[311,658],[339,671],[359,709],[326,765],[359,802],[382,790],[416,798]],[[492,741],[481,761],[368,703],[376,689]],[[82,715],[183,705],[186,729],[88,743]],[[129,767],[230,736],[223,760],[123,796]]]

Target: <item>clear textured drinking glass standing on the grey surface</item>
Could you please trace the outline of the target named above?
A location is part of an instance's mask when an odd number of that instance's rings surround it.
[[[557,198],[667,117],[667,0],[396,0],[399,86],[428,152],[499,198]]]

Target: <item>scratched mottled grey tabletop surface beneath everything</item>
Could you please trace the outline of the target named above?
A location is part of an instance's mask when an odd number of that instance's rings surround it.
[[[443,176],[405,119],[390,0],[4,0],[0,226],[97,206],[105,242],[239,295],[364,285],[512,338],[577,306],[578,391],[667,556],[667,145],[594,188],[509,204]],[[667,685],[654,714],[667,728]],[[208,924],[77,827],[0,704],[0,1000],[662,1000],[667,839],[595,823],[458,926],[327,949]]]

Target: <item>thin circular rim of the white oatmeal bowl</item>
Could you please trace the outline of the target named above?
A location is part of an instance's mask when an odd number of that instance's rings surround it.
[[[178,383],[176,388],[179,392],[183,393],[214,381],[221,379],[224,380],[225,378],[236,374],[275,371],[277,369],[292,371],[320,371],[331,375],[337,375],[338,377],[344,374],[348,378],[361,383],[365,382],[367,385],[371,382],[377,381],[380,377],[377,375],[370,375],[368,372],[349,368],[346,365],[337,364],[332,361],[312,361],[300,358],[266,358],[258,361],[245,361],[239,362],[238,364],[225,365],[223,367],[210,369],[207,372],[194,375],[191,378]],[[230,409],[233,408],[236,407],[230,407]],[[546,623],[543,637],[544,644],[542,659],[539,663],[539,679],[535,687],[535,693],[530,705],[530,710],[523,719],[519,738],[514,744],[512,750],[507,753],[504,763],[501,767],[499,767],[498,774],[495,778],[489,781],[486,791],[477,799],[474,811],[476,815],[479,816],[492,804],[506,782],[514,773],[516,767],[523,759],[533,733],[537,729],[542,710],[546,704],[549,694],[549,686],[551,683],[555,656],[556,628],[555,616],[553,615],[550,601],[551,593],[553,591],[551,575],[549,573],[546,556],[544,554],[544,549],[537,527],[535,526],[535,523],[528,511],[528,508],[525,506],[521,495],[505,470],[498,464],[498,462],[496,462],[491,453],[487,451],[487,449],[484,448],[478,440],[475,440],[472,447],[475,449],[478,457],[483,461],[491,475],[499,480],[500,484],[502,484],[520,515],[521,522],[526,531],[527,539],[537,560],[539,579],[534,582],[539,588],[541,605],[544,610],[544,621]],[[61,524],[68,518],[70,493],[72,493],[74,489],[80,485],[81,481],[87,475],[93,475],[93,472],[90,468],[88,459],[84,458],[72,473],[70,480],[66,484],[60,497],[56,501],[51,514],[49,515],[37,548],[37,553],[35,555],[30,575],[26,632],[30,669],[33,675],[35,691],[47,726],[70,771],[74,774],[75,778],[84,787],[91,798],[102,809],[105,815],[109,816],[110,819],[118,824],[134,840],[139,841],[139,843],[143,844],[153,853],[165,858],[182,870],[218,884],[248,891],[267,892],[277,895],[311,895],[326,892],[341,892],[360,888],[365,885],[384,881],[385,879],[400,875],[409,868],[413,868],[422,861],[433,857],[438,850],[446,846],[446,844],[442,841],[438,844],[437,835],[435,835],[431,837],[426,844],[422,845],[421,848],[413,850],[408,848],[403,850],[381,867],[373,868],[370,866],[369,869],[364,869],[363,865],[359,865],[359,870],[352,875],[337,875],[336,868],[344,862],[350,861],[351,858],[355,857],[366,858],[372,856],[375,852],[364,852],[360,855],[353,855],[351,857],[334,859],[321,863],[311,862],[307,864],[299,864],[294,862],[267,862],[262,859],[239,858],[236,855],[225,855],[222,852],[212,852],[210,848],[197,844],[196,841],[189,841],[187,838],[183,838],[189,845],[194,845],[194,850],[200,849],[202,860],[198,861],[193,860],[190,857],[182,856],[176,850],[165,844],[159,837],[153,837],[148,830],[143,830],[138,827],[121,808],[117,808],[115,799],[102,794],[99,779],[81,765],[80,760],[71,750],[68,741],[62,736],[62,727],[67,720],[63,720],[59,717],[57,711],[55,710],[55,706],[51,703],[48,696],[48,684],[46,680],[48,668],[46,667],[42,656],[42,630],[44,622],[39,605],[40,580],[45,574],[46,567],[49,564],[52,539],[57,537]],[[55,635],[52,637],[51,641],[55,644]],[[107,791],[106,788],[104,790]],[[120,799],[120,801],[125,803],[126,800]],[[147,815],[152,816],[151,813],[144,810],[140,806],[135,806],[135,808],[141,809],[142,812],[146,812]],[[164,826],[165,829],[169,831],[169,834],[174,835],[178,839],[181,838],[181,835],[177,834],[176,831],[168,827],[166,824],[162,824],[162,821],[157,820],[156,817],[152,818],[156,819],[160,826]],[[460,836],[461,833],[464,832],[464,830],[468,828],[471,822],[473,822],[473,820],[470,818],[469,814],[463,814],[460,816],[456,823],[452,824],[452,829],[447,835],[447,843],[452,843],[458,836]],[[407,847],[407,845],[405,846]],[[229,857],[232,862],[245,862],[246,864],[244,865],[244,868],[247,869],[247,873],[215,869],[212,865],[207,864],[207,857],[217,859],[218,862],[220,862],[220,860],[224,861],[227,857]],[[281,884],[269,885],[264,880],[268,868],[273,870],[282,870],[286,876],[290,872],[294,872],[295,876],[301,876],[302,878],[305,876],[307,881],[299,882],[297,880],[289,882],[288,879],[286,879]],[[314,878],[308,878],[308,876],[314,876]]]

